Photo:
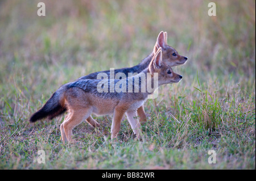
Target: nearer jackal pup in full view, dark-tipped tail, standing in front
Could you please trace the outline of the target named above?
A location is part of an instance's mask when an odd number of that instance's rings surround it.
[[[128,84],[129,79],[142,77],[143,74],[145,79],[141,79],[139,85],[135,85],[135,82],[132,81],[133,87],[141,87],[142,81],[146,81],[144,83],[147,86],[152,84],[152,79],[156,73],[158,74],[158,85],[154,86],[154,89],[167,83],[179,82],[182,78],[181,75],[174,73],[170,66],[162,61],[162,48],[159,48],[148,68],[133,77],[123,79],[123,81]],[[122,117],[126,114],[133,132],[137,138],[141,137],[141,123],[135,117],[137,117],[137,109],[142,106],[152,92],[147,90],[144,92],[98,92],[97,85],[100,81],[102,80],[80,79],[61,86],[46,104],[31,116],[30,122],[35,122],[44,117],[52,119],[68,111],[69,113],[65,116],[64,122],[60,125],[61,138],[64,142],[73,142],[72,129],[83,120],[86,120],[90,114],[109,115],[113,113],[111,138],[114,139],[117,138]],[[109,84],[116,84],[120,80],[106,79],[106,81]],[[90,124],[98,125],[95,120]]]

